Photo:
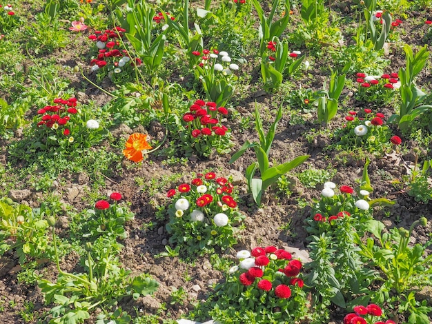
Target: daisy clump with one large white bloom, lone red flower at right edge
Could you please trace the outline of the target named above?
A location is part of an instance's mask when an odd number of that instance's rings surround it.
[[[402,139],[392,136],[385,124],[385,115],[366,108],[362,112],[350,111],[346,123],[337,129],[337,145],[340,149],[360,148],[366,152],[381,155],[392,145],[400,145]]]

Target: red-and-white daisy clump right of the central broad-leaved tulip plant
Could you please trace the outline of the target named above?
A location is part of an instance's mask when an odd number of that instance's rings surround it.
[[[337,188],[331,181],[324,183],[320,200],[315,200],[311,216],[306,219],[308,232],[328,232],[342,220],[364,223],[372,219],[369,194],[367,190],[360,190],[357,194],[349,185]]]

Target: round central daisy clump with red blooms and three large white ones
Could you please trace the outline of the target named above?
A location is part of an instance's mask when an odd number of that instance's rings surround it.
[[[237,208],[235,188],[227,178],[215,172],[197,174],[190,183],[168,190],[173,199],[168,206],[170,222],[166,230],[170,243],[182,252],[197,255],[232,246],[233,234],[244,216]]]

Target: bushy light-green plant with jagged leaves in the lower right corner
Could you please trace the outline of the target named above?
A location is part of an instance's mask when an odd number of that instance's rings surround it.
[[[394,227],[386,232],[382,222],[371,219],[365,223],[365,230],[375,239],[369,237],[364,242],[361,236],[356,238],[366,265],[380,269],[382,285],[375,292],[373,301],[400,304],[397,307],[399,312],[408,311],[410,314],[408,323],[429,323],[428,313],[432,311],[432,307],[415,299],[416,291],[431,285],[432,256],[424,257],[424,252],[432,241],[409,246],[413,228],[426,223],[426,218],[421,217],[409,230]]]

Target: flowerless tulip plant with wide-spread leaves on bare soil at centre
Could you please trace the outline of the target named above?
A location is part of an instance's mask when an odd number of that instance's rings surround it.
[[[270,167],[268,162],[268,154],[270,152],[273,139],[275,139],[277,123],[281,118],[282,105],[279,107],[279,110],[277,110],[276,119],[272,123],[270,130],[268,130],[267,134],[264,134],[261,117],[259,117],[259,110],[257,105],[255,105],[255,126],[259,135],[259,143],[250,143],[249,141],[246,141],[242,148],[240,148],[239,151],[235,153],[229,161],[229,163],[235,162],[249,148],[253,148],[255,151],[257,161],[249,165],[246,169],[246,180],[248,181],[248,190],[252,193],[253,200],[255,203],[257,203],[257,205],[261,205],[262,195],[266,189],[273,185],[273,183],[276,183],[277,179],[279,179],[282,174],[286,174],[286,172],[293,170],[293,168],[302,164],[309,157],[309,155],[298,156],[292,161]],[[261,174],[261,178],[259,179],[253,178],[257,169],[259,169]]]

